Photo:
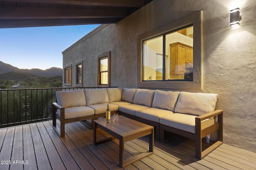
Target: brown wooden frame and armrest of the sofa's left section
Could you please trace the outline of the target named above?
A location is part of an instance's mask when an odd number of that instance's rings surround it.
[[[60,115],[57,113],[57,109],[60,109]],[[118,111],[111,111],[111,115],[114,113],[118,113]],[[56,119],[60,120],[60,137],[65,137],[65,124],[72,123],[76,121],[84,121],[92,119],[92,129],[93,129],[93,120],[98,119],[100,117],[105,117],[106,113],[101,113],[97,115],[90,115],[84,117],[76,117],[73,119],[65,119],[65,107],[61,106],[60,104],[54,102],[52,103],[52,125],[56,127]],[[57,132],[57,131],[56,131]],[[58,133],[58,132],[57,132]]]

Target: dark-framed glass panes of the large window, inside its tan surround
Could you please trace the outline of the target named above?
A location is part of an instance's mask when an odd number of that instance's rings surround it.
[[[193,26],[143,41],[143,81],[193,80]]]

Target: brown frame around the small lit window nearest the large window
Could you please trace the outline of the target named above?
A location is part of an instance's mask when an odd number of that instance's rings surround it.
[[[105,53],[101,53],[98,55],[98,87],[110,87],[110,63],[111,63],[111,52],[107,51]],[[103,59],[108,59],[108,70],[107,71],[100,71],[100,61]],[[108,72],[108,84],[101,84],[101,73]]]

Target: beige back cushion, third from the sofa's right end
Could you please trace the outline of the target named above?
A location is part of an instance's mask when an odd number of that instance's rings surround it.
[[[133,103],[152,107],[152,101],[156,90],[138,89]]]

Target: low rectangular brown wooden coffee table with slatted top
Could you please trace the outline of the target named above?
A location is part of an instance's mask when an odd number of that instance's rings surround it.
[[[110,141],[114,138],[119,140],[119,166],[124,167],[137,160],[145,158],[154,152],[154,127],[150,125],[146,125],[145,123],[141,123],[139,121],[129,119],[124,116],[119,116],[117,122],[113,122],[112,119],[110,123],[106,123],[106,119],[98,119],[94,120],[94,128],[93,128],[93,143],[97,145],[99,143]],[[112,135],[112,137],[101,139],[96,141],[96,128],[100,128],[106,133]],[[131,141],[133,139],[137,139],[146,135],[150,135],[149,137],[149,150],[147,152],[143,152],[136,156],[132,156],[126,160],[124,160],[124,143]]]

